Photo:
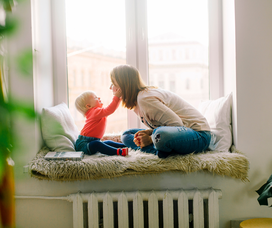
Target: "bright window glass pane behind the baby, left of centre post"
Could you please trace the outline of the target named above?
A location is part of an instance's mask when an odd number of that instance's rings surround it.
[[[126,64],[126,27],[124,0],[65,0],[69,110],[78,130],[85,119],[74,105],[76,97],[93,90],[110,104],[110,71]],[[127,109],[119,108],[107,117],[105,133],[128,128]]]

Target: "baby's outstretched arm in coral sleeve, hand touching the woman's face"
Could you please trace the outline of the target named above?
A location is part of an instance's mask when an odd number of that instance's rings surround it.
[[[93,111],[93,115],[95,115],[97,118],[103,118],[106,116],[111,115],[115,112],[115,110],[118,108],[118,105],[120,103],[120,97],[121,97],[121,89],[117,89],[114,93],[114,97],[112,99],[111,104],[109,104],[106,108],[98,108],[95,107]]]

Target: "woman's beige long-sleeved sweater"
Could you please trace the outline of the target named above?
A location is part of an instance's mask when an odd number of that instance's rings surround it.
[[[159,126],[185,126],[210,131],[206,118],[177,94],[161,88],[141,91],[134,112],[150,129]]]

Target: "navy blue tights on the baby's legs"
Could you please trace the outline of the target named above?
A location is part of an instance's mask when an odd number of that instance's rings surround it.
[[[125,148],[126,146],[122,143],[117,143],[112,140],[105,141],[91,141],[89,142],[88,148],[91,155],[96,152],[100,152],[104,155],[117,155],[117,148]],[[122,155],[122,150],[119,151],[119,154]]]

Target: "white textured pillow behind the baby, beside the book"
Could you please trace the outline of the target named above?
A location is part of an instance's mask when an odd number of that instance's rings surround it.
[[[42,109],[41,128],[43,140],[51,151],[75,151],[79,132],[64,102]]]

